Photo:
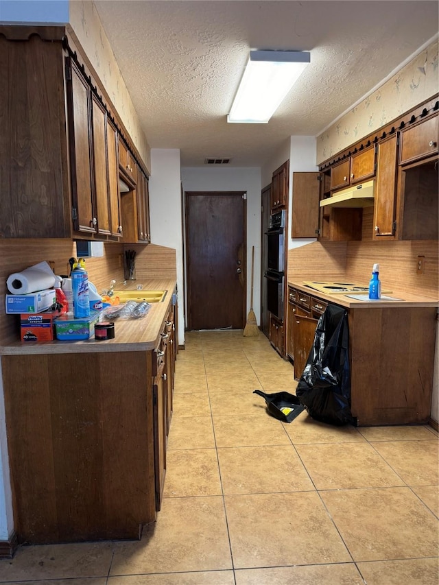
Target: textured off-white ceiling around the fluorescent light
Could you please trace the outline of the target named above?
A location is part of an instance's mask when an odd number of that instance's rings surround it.
[[[437,1],[95,0],[147,141],[261,166],[317,135],[438,32]],[[228,124],[249,49],[311,51],[268,124]]]

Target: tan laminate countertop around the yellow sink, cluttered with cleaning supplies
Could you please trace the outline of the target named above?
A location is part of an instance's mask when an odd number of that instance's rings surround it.
[[[151,278],[140,282],[128,281],[115,285],[116,290],[136,290],[138,285],[143,285],[146,290],[166,290],[167,294],[162,302],[151,304],[145,317],[140,319],[119,320],[115,319],[115,339],[106,341],[95,340],[95,337],[84,341],[58,341],[53,342],[21,342],[19,332],[16,339],[7,340],[0,346],[0,355],[35,355],[35,354],[60,354],[60,353],[102,353],[121,351],[145,351],[153,350],[158,344],[158,339],[163,329],[163,324],[169,313],[172,303],[172,293],[176,287],[176,280],[170,278]],[[13,317],[14,315],[10,315]]]

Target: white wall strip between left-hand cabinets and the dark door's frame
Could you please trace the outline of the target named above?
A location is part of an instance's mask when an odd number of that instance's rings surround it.
[[[178,322],[185,322],[183,280],[182,202],[180,150],[151,150],[150,223],[151,241],[158,246],[175,248],[177,255]],[[178,344],[185,343],[185,328],[178,328]]]

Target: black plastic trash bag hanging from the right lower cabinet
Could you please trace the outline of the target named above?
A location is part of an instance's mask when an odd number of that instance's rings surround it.
[[[296,394],[312,418],[330,425],[355,425],[348,346],[348,313],[329,304],[318,320]]]

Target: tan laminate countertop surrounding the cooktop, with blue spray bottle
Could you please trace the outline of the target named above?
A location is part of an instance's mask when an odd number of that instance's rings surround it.
[[[401,290],[392,290],[391,293],[385,294],[385,296],[400,298],[401,300],[359,300],[344,294],[322,293],[304,285],[302,280],[289,280],[288,285],[326,302],[333,302],[335,305],[346,307],[346,309],[370,309],[371,307],[379,307],[380,309],[388,309],[389,307],[398,307],[399,309],[401,307],[407,307],[407,309],[413,307],[439,307],[439,300],[427,296],[410,294]]]

